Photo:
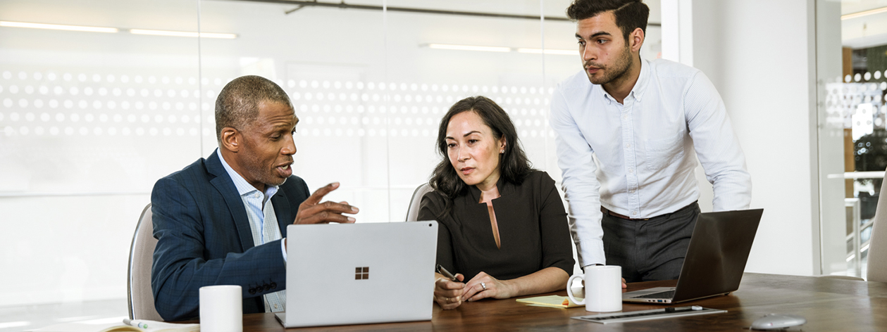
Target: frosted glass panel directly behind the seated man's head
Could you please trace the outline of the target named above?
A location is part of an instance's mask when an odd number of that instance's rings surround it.
[[[276,81],[300,119],[294,174],[311,190],[341,181],[327,199],[360,207],[359,222],[389,221],[382,12],[310,7],[287,13],[294,7],[202,3],[201,30],[239,35],[201,40],[207,94],[215,99],[240,75]],[[212,137],[205,154],[216,148],[215,132]]]

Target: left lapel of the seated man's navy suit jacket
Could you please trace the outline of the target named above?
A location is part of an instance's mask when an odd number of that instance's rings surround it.
[[[224,197],[224,202],[228,205],[228,210],[234,219],[234,227],[237,229],[240,245],[243,247],[243,251],[247,251],[255,246],[255,243],[253,243],[253,231],[252,228],[249,228],[247,209],[243,206],[243,200],[240,199],[237,187],[234,186],[231,175],[228,175],[228,172],[222,166],[222,161],[219,160],[216,151],[213,151],[213,154],[207,158],[207,172],[216,175],[209,183],[212,183],[216,190],[219,190],[219,193]]]

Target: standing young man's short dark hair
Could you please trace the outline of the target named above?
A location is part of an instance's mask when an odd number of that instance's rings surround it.
[[[616,27],[628,41],[628,35],[640,27],[647,34],[650,8],[640,0],[576,0],[567,8],[567,17],[573,20],[590,19],[601,12],[613,11]]]

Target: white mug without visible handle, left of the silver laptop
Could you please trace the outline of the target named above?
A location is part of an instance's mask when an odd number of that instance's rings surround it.
[[[242,292],[238,285],[200,287],[200,331],[243,332]]]

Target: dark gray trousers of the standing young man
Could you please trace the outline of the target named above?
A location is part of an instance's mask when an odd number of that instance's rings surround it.
[[[699,204],[693,203],[649,220],[603,213],[607,265],[622,266],[625,282],[678,279],[699,212]]]

